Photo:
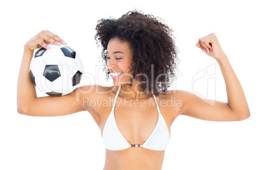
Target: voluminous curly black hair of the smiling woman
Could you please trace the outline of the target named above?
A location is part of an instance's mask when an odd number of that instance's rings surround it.
[[[161,20],[133,10],[118,19],[103,18],[97,22],[94,39],[97,44],[101,42],[103,47],[101,55],[106,79],[110,78],[110,70],[106,69],[106,49],[110,39],[117,37],[120,41],[128,42],[133,52],[130,72],[134,70],[134,73],[130,86],[133,79],[137,79],[139,82],[149,82],[140,84],[143,91],[148,88],[155,96],[159,96],[159,92],[166,93],[166,89],[171,86],[170,78],[175,76],[178,49],[174,44],[173,30]]]

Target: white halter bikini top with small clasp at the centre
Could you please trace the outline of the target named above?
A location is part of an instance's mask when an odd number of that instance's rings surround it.
[[[108,150],[124,150],[129,147],[143,147],[150,150],[166,150],[166,147],[169,143],[169,131],[166,122],[164,121],[164,117],[162,117],[162,114],[160,114],[158,104],[157,110],[159,112],[159,117],[157,125],[155,126],[155,129],[153,129],[153,132],[150,134],[145,143],[143,143],[142,145],[130,145],[130,143],[125,140],[124,136],[122,135],[122,133],[120,133],[117,127],[117,122],[115,121],[114,115],[115,102],[117,101],[117,96],[120,89],[121,86],[119,86],[118,88],[112,110],[103,129],[103,143],[105,147]],[[155,95],[153,95],[153,97],[155,98]],[[155,102],[157,103],[156,98]]]

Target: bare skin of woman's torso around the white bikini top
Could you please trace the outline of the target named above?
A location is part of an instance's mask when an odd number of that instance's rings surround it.
[[[101,130],[101,136],[103,136],[103,129],[113,107],[113,100],[118,88],[114,89],[112,86],[101,89],[110,91],[110,93],[97,95],[94,98],[94,100],[98,100],[97,105],[86,107],[86,109],[96,121]],[[169,135],[171,134],[171,124],[178,116],[181,106],[177,102],[177,98],[172,96],[176,96],[176,94],[160,94],[156,97],[160,114],[162,114],[166,122]],[[129,98],[118,95],[114,115],[120,133],[130,144],[144,143],[155,129],[159,119],[157,104],[153,96],[140,101],[132,101]],[[150,150],[143,147],[129,147],[124,150],[106,149],[104,170],[161,169],[164,152],[164,150]]]

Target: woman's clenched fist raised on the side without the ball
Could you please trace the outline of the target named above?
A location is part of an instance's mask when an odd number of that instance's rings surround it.
[[[197,41],[196,46],[202,49],[202,51],[204,51],[208,56],[212,56],[216,60],[227,57],[224,51],[222,51],[220,42],[218,42],[214,33],[201,37],[199,41]]]

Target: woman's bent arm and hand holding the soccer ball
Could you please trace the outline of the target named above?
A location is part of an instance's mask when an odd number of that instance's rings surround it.
[[[79,93],[80,89],[76,89],[73,93],[66,96],[46,96],[37,98],[36,89],[29,75],[29,65],[33,51],[41,47],[50,49],[50,47],[47,46],[49,43],[56,44],[57,46],[66,44],[59,36],[56,36],[48,30],[43,30],[32,37],[24,46],[17,88],[17,110],[20,114],[57,116],[73,114],[85,110],[81,98],[76,98],[76,93]]]

